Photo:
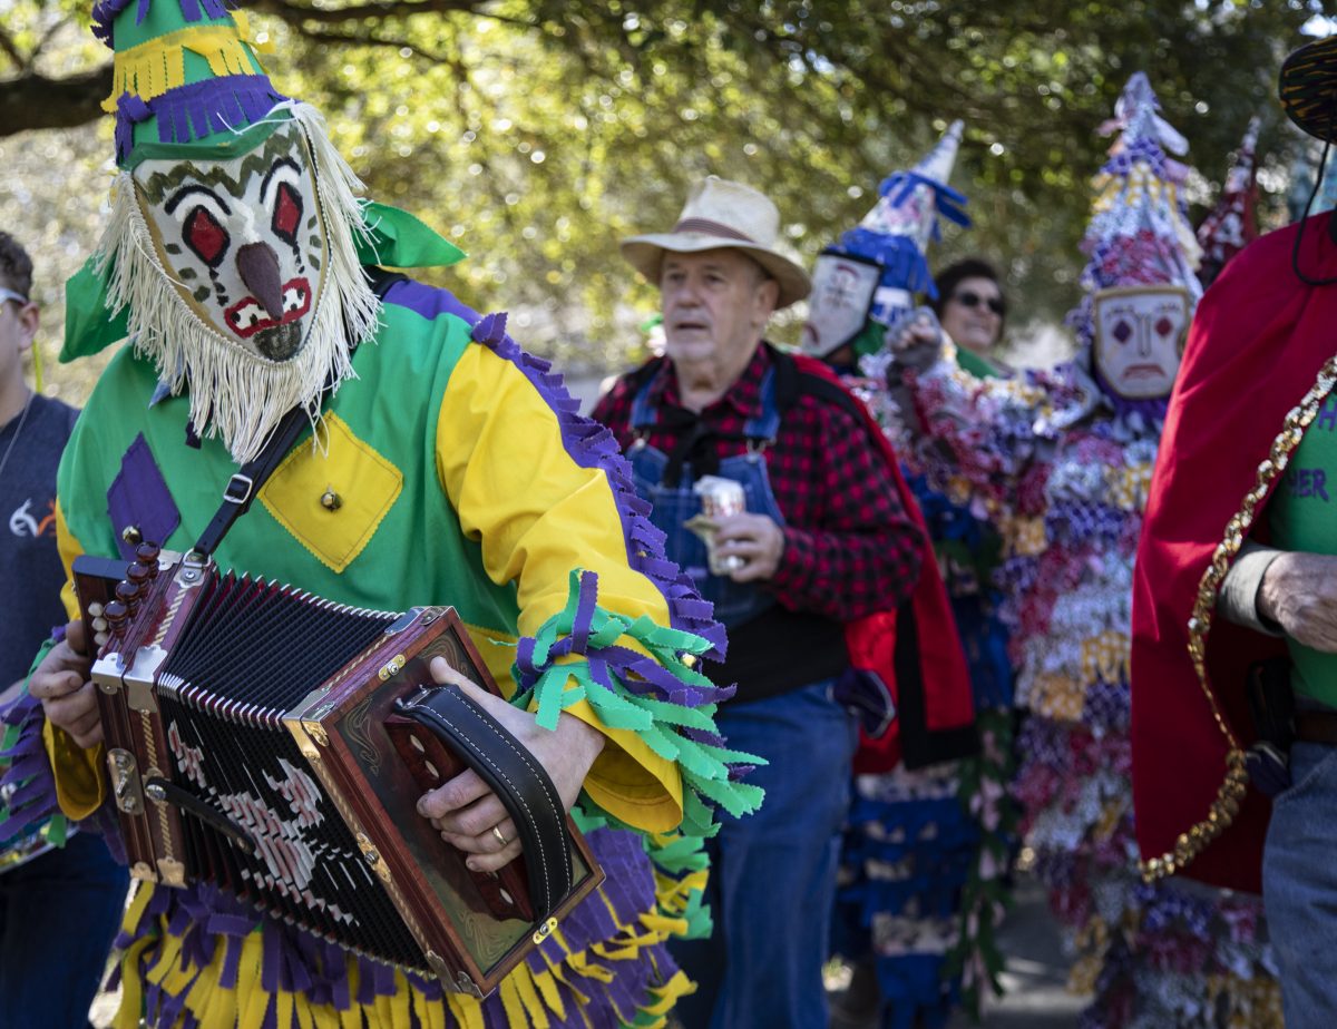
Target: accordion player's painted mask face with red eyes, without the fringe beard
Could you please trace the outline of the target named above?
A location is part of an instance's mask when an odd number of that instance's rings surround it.
[[[299,127],[233,160],[146,160],[134,178],[158,259],[191,311],[257,357],[297,357],[328,263]]]

